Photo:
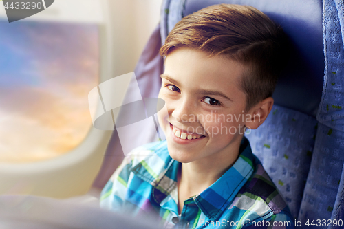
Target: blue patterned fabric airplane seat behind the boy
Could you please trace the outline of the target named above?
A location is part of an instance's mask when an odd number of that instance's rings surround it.
[[[164,0],[160,25],[135,69],[142,98],[158,96],[163,71],[159,48],[175,23],[219,3],[261,10],[281,24],[292,45],[292,58],[277,83],[268,119],[246,133],[253,153],[283,193],[295,219],[303,223],[344,219],[342,1]],[[129,90],[126,96],[132,93],[136,92]],[[144,131],[135,134],[138,139],[147,135]],[[114,131],[95,187],[105,186],[122,156]]]

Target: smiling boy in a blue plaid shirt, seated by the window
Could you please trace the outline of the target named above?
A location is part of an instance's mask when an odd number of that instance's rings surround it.
[[[177,23],[160,54],[166,141],[125,158],[101,205],[156,215],[165,228],[293,228],[244,138],[272,109],[286,56],[281,28],[252,7],[210,6]]]

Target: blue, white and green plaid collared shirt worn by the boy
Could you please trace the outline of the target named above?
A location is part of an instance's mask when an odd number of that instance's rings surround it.
[[[180,162],[166,140],[131,152],[107,182],[100,206],[152,216],[164,228],[294,228],[290,210],[246,138],[235,164],[200,195],[184,201],[178,215]]]

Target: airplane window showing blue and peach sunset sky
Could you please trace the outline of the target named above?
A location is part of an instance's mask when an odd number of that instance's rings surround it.
[[[0,66],[0,162],[47,160],[83,141],[98,25],[0,21]]]

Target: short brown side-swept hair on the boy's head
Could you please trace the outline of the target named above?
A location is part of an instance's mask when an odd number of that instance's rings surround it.
[[[252,6],[208,6],[179,21],[160,49],[166,57],[178,47],[226,55],[247,66],[239,87],[246,94],[246,110],[272,96],[287,61],[282,28]]]

